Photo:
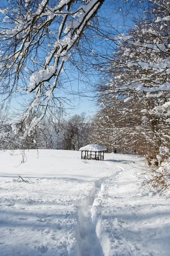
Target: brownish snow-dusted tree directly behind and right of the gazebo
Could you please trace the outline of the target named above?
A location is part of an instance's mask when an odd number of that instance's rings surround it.
[[[144,102],[131,99],[109,99],[108,95],[100,99],[100,111],[92,122],[91,142],[95,141],[108,148],[117,149],[122,154],[151,155],[159,149],[155,130],[158,126],[156,119],[141,112]],[[159,137],[160,139],[160,137]]]

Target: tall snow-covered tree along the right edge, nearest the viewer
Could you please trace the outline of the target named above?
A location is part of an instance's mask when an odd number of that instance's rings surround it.
[[[148,6],[143,6],[143,17],[134,19],[135,26],[128,34],[112,38],[116,50],[106,65],[110,76],[98,89],[99,97],[106,102],[137,99],[136,103],[142,106],[138,117],[145,127],[140,124],[139,128],[153,147],[148,152],[148,163],[161,165],[154,169],[150,183],[159,191],[167,191],[170,188],[170,5],[165,0],[145,3]]]

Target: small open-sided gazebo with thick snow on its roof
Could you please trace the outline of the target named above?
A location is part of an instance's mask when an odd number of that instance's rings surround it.
[[[104,160],[104,153],[106,151],[106,148],[94,144],[82,147],[79,149],[79,151],[82,151],[81,159]]]

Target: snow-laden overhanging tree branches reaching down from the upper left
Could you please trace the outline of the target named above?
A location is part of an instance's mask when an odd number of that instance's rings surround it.
[[[29,119],[24,137],[48,107],[66,101],[55,91],[66,79],[65,62],[74,55],[85,30],[104,0],[11,0],[0,2],[0,94],[28,94],[21,122]],[[26,121],[27,122],[27,121]],[[16,131],[17,126],[15,125]],[[14,128],[14,126],[13,126]]]

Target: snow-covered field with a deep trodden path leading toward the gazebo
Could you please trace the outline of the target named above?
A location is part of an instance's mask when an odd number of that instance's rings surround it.
[[[170,200],[139,192],[142,158],[16,153],[0,154],[0,256],[170,255]]]

